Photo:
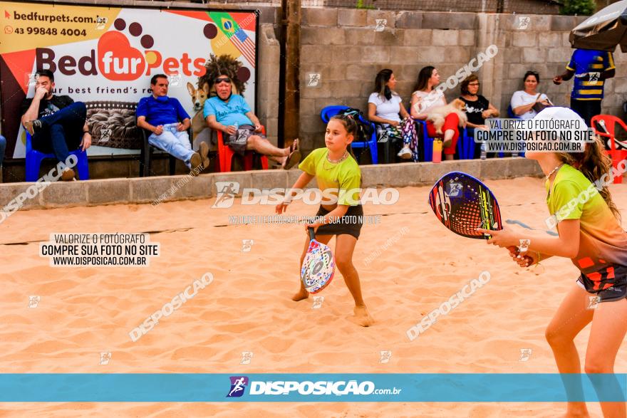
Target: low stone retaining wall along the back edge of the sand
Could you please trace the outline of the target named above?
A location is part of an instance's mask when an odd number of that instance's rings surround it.
[[[385,164],[361,167],[363,187],[407,187],[434,184],[447,172],[462,171],[480,179],[507,179],[512,177],[540,176],[537,162],[524,158],[499,158],[491,160],[460,160],[433,164]],[[21,209],[95,206],[102,204],[150,204],[160,197],[162,202],[183,199],[209,199],[216,196],[217,182],[239,182],[240,188],[272,189],[294,185],[301,174],[298,169],[265,170],[202,174],[199,177],[164,176],[134,179],[101,179],[85,182],[54,182],[33,199],[24,200]],[[0,208],[5,207],[19,194],[26,192],[32,183],[0,184]],[[315,187],[314,181],[309,187]],[[0,216],[1,219],[1,216]]]

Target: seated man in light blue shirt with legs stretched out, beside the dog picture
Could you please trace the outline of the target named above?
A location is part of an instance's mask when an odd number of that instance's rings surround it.
[[[217,96],[204,102],[204,119],[211,129],[224,132],[224,143],[244,155],[255,150],[290,169],[301,160],[299,140],[288,148],[277,148],[261,135],[261,123],[241,95],[232,94],[231,78],[220,74],[214,79]]]

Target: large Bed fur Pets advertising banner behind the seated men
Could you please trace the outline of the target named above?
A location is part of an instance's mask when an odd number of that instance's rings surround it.
[[[226,62],[254,110],[257,11],[133,9],[0,1],[2,133],[6,157],[23,158],[20,106],[32,98],[36,70],[51,70],[55,95],[86,103],[88,155],[138,153],[135,106],[150,78],[168,75],[168,95],[192,117],[195,143],[208,137],[202,107],[211,70]],[[212,57],[213,56],[213,57]],[[213,63],[213,65],[212,65]]]

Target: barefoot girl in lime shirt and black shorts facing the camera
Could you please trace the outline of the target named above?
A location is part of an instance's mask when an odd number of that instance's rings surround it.
[[[351,142],[356,133],[357,124],[351,116],[331,117],[324,137],[326,147],[314,150],[301,162],[299,169],[303,170],[303,174],[286,195],[284,203],[276,205],[276,213],[282,214],[286,210],[294,196],[294,189],[304,189],[311,179],[316,177],[318,189],[323,192],[323,199],[316,213],[318,220],[314,224],[306,225],[306,228],[313,227],[316,230],[316,240],[322,244],[328,244],[328,241],[336,236],[336,265],[355,300],[353,312],[356,323],[367,327],[373,320],[368,314],[366,304],[363,303],[359,275],[353,266],[353,251],[359,238],[363,216],[363,209],[359,204],[361,170],[350,152]],[[326,189],[333,192],[325,193]],[[330,195],[335,199],[326,200],[325,197]],[[308,247],[309,236],[301,254],[301,265]],[[292,299],[301,301],[308,297],[309,293],[301,281],[301,288]]]

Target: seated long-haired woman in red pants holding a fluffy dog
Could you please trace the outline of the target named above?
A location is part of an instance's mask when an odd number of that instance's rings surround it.
[[[427,66],[420,70],[415,91],[412,94],[411,115],[414,119],[425,120],[428,110],[446,105],[444,94],[440,90],[434,90],[438,84],[440,84],[440,74],[434,67]],[[459,116],[455,113],[446,115],[444,126],[442,126],[442,132],[444,132],[442,147],[446,160],[453,160],[455,156],[455,146],[460,137],[460,131],[457,129],[459,125]],[[430,120],[427,120],[427,134],[434,138],[440,136],[435,132],[435,127]]]

